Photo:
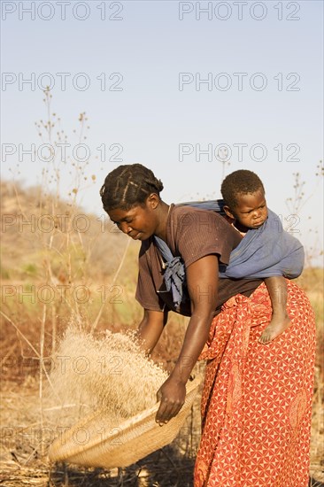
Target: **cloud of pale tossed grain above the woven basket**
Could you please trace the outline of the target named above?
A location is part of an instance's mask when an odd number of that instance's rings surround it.
[[[148,359],[135,334],[93,335],[73,327],[52,362],[48,391],[53,422],[70,426],[85,414],[102,411],[114,424],[157,402],[167,374]]]

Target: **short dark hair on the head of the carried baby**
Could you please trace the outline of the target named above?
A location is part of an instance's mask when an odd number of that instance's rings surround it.
[[[237,206],[239,195],[253,194],[259,190],[265,193],[262,181],[257,174],[247,169],[239,169],[228,174],[220,188],[225,205],[232,209]]]

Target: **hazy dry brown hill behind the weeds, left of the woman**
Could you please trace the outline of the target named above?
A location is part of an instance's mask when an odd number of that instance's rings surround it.
[[[1,195],[3,279],[43,277],[49,255],[54,282],[109,276],[117,269],[127,237],[108,216],[99,219],[76,204],[45,196],[41,187],[2,182]]]

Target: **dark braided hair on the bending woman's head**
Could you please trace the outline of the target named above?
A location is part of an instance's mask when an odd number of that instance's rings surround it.
[[[133,206],[143,205],[151,193],[158,194],[163,189],[163,183],[153,172],[142,164],[128,164],[118,166],[109,173],[100,196],[104,210],[129,210]]]

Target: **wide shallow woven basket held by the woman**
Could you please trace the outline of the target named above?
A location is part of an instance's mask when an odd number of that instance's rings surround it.
[[[50,445],[50,460],[102,468],[135,463],[174,440],[190,413],[201,381],[199,375],[187,384],[180,413],[163,426],[155,421],[159,403],[118,426],[113,426],[102,412],[96,413],[77,422]]]

